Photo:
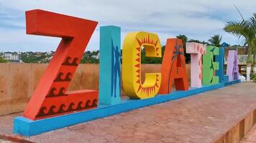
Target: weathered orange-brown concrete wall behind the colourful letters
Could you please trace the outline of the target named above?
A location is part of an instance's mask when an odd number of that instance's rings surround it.
[[[0,64],[0,115],[24,110],[46,67],[47,64]],[[160,72],[160,68],[161,64],[143,64],[142,75]],[[187,71],[190,81],[190,65]],[[76,89],[99,89],[99,64],[79,64],[68,90]]]

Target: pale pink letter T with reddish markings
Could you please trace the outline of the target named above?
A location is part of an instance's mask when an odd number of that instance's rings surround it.
[[[191,54],[191,87],[202,87],[202,55],[206,53],[206,44],[188,42],[186,53]]]

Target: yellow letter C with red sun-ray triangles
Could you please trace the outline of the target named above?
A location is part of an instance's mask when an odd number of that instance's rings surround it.
[[[146,56],[161,57],[161,44],[157,34],[144,31],[131,32],[124,39],[122,49],[122,82],[125,94],[132,99],[155,97],[160,83],[160,73],[146,73],[142,83],[141,49]]]

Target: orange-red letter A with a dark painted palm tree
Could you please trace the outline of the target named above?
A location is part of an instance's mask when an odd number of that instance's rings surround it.
[[[173,80],[176,90],[188,90],[186,61],[181,39],[167,39],[161,74],[159,94],[169,94],[172,91]]]

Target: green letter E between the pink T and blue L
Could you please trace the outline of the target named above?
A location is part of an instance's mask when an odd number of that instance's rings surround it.
[[[219,63],[214,61],[214,56],[219,55],[219,47],[206,46],[206,54],[203,55],[203,85],[219,83],[219,77],[214,76],[214,71],[219,69]]]

